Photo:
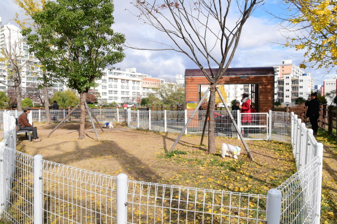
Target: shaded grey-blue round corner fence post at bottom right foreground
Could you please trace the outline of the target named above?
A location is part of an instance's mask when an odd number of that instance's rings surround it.
[[[282,205],[282,193],[277,189],[268,190],[266,205],[266,223],[279,224]]]

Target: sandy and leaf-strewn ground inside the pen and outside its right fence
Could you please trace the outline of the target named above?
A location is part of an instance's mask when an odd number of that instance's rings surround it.
[[[125,173],[130,179],[207,188],[266,194],[296,172],[289,144],[276,141],[247,141],[255,159],[250,161],[242,142],[235,138],[216,138],[217,154],[207,155],[207,145],[200,136],[186,135],[169,155],[177,134],[132,130],[122,124],[99,131],[97,141],[92,129],[79,140],[78,124],[66,123],[55,133],[45,136],[56,124],[38,124],[41,142],[19,138],[18,148],[30,155],[40,154],[45,160],[116,176]],[[89,124],[86,124],[90,128]],[[337,141],[320,133],[317,137],[327,150],[324,154],[322,223],[337,223],[336,216],[336,148]],[[238,145],[238,160],[221,158],[223,142]],[[207,144],[207,138],[204,139]]]

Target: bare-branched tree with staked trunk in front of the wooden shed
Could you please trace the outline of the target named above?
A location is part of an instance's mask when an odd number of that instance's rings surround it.
[[[202,70],[211,88],[209,113],[214,114],[216,84],[234,57],[243,25],[263,1],[133,0],[132,4],[140,11],[136,16],[145,25],[171,39],[172,44],[156,42],[165,48],[155,50],[184,53]],[[215,153],[214,128],[214,116],[210,116],[208,153]]]

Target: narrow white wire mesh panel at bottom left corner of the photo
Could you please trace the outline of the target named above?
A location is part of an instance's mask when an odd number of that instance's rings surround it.
[[[5,223],[33,223],[33,157],[1,147],[1,210]]]

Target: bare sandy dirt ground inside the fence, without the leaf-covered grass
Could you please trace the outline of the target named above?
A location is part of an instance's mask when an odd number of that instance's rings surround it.
[[[174,162],[158,160],[158,156],[163,156],[170,150],[178,134],[138,131],[125,127],[123,123],[115,123],[115,128],[103,128],[104,132],[96,126],[100,138],[98,141],[90,123],[86,124],[84,139],[78,139],[79,123],[64,123],[46,137],[56,125],[35,124],[38,136],[42,140],[29,142],[24,135],[21,135],[18,137],[18,150],[32,156],[40,154],[44,160],[107,175],[125,173],[129,178],[138,181],[160,182],[162,178],[160,175],[170,175],[182,169],[183,165],[177,166]],[[200,146],[200,139],[201,136],[183,136],[176,149],[206,154],[208,139],[204,138],[205,146]],[[244,158],[249,160],[242,142],[235,138],[226,140],[216,138],[219,159],[222,142],[240,146],[242,156],[239,160]],[[256,141],[247,141],[249,147],[253,148],[251,153],[257,163],[274,164],[280,159],[267,148],[254,147],[255,143]]]

